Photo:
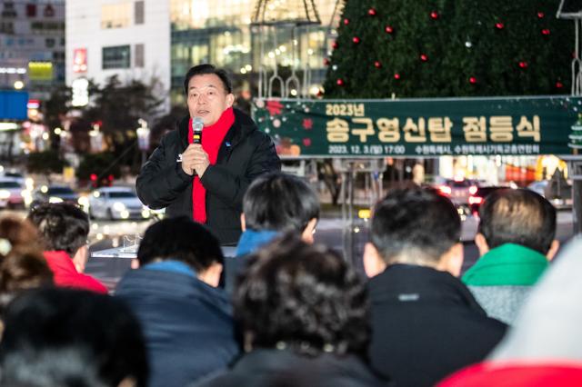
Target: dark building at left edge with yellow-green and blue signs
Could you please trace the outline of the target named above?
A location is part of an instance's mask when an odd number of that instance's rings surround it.
[[[0,158],[11,160],[21,135],[48,135],[40,107],[65,84],[65,0],[0,1],[0,47]]]

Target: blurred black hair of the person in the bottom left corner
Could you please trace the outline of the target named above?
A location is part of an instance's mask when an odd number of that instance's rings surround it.
[[[64,288],[35,289],[5,312],[0,386],[146,387],[146,345],[120,299]]]

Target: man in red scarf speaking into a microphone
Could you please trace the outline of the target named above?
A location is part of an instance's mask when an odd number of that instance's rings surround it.
[[[232,107],[235,95],[225,70],[196,65],[186,73],[184,89],[189,116],[142,167],[137,195],[150,208],[166,207],[170,217],[188,215],[220,243],[234,244],[246,188],[256,176],[280,170],[281,162],[271,138]],[[196,130],[200,121],[202,134]]]

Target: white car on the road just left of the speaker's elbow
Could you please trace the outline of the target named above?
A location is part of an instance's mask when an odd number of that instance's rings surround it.
[[[89,197],[89,215],[95,219],[149,219],[151,213],[131,188],[102,187]]]

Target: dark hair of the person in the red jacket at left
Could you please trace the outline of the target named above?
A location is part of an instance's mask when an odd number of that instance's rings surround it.
[[[89,234],[89,217],[69,203],[40,204],[28,214],[28,220],[41,233],[46,251],[64,250],[73,256]]]

